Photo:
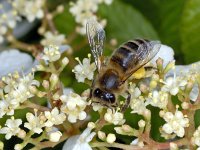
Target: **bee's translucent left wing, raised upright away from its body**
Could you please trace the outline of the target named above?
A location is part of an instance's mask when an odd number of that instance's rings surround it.
[[[100,57],[103,54],[103,42],[105,39],[105,31],[103,27],[94,19],[88,20],[86,24],[86,34],[90,44],[92,55],[98,71],[101,68]]]

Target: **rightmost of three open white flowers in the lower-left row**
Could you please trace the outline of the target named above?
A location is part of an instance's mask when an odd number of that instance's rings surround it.
[[[51,112],[45,111],[44,115],[47,118],[47,122],[45,122],[46,127],[52,127],[53,125],[62,124],[66,119],[65,114],[59,113],[57,107],[55,107]]]

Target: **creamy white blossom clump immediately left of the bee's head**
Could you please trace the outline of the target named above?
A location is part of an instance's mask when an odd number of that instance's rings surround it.
[[[75,123],[77,119],[84,120],[87,116],[84,109],[88,105],[85,97],[80,97],[78,94],[71,92],[70,94],[62,95],[61,111],[68,115],[68,120]]]

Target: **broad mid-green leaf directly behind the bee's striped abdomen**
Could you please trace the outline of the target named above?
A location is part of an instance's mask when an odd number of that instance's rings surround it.
[[[115,0],[112,5],[102,5],[100,16],[107,19],[107,37],[120,43],[134,39],[159,39],[152,25],[133,7]]]

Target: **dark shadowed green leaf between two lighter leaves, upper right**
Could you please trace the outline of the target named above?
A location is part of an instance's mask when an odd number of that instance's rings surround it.
[[[137,8],[154,26],[163,44],[175,51],[178,63],[184,57],[181,51],[180,26],[185,0],[125,0]]]

